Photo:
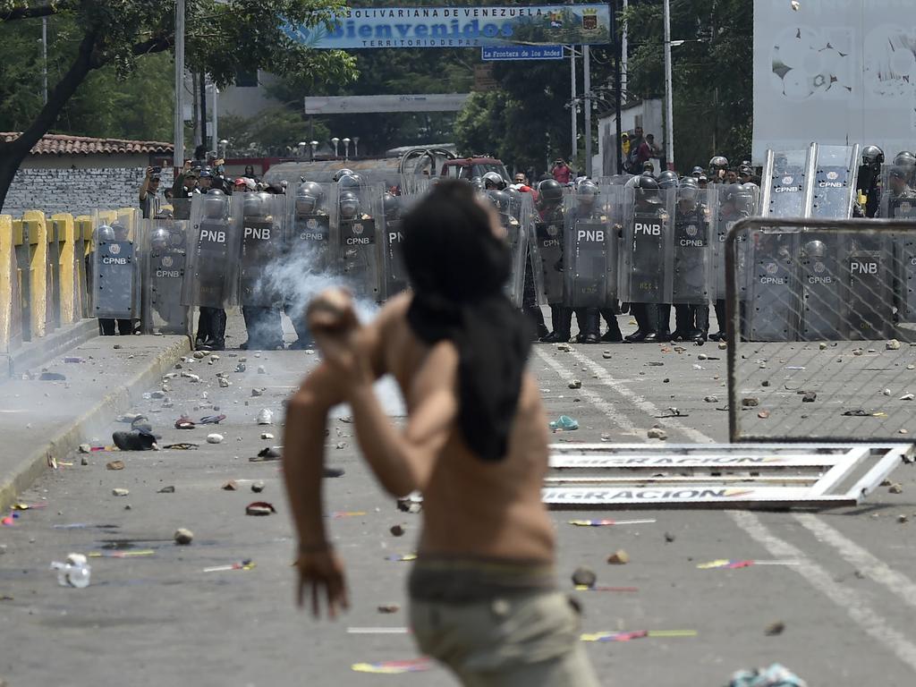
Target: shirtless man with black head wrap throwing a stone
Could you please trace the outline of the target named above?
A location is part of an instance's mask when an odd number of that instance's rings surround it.
[[[324,360],[290,399],[284,474],[299,532],[300,605],[347,606],[344,565],[322,518],[324,428],[346,401],[360,448],[393,496],[423,495],[410,575],[420,650],[465,685],[596,687],[579,616],[555,585],[553,528],[540,501],[548,430],[525,371],[527,321],[504,295],[509,247],[492,207],[445,181],[403,220],[412,293],[357,322],[344,291],[311,303]],[[408,409],[398,430],[373,390],[395,377]]]

